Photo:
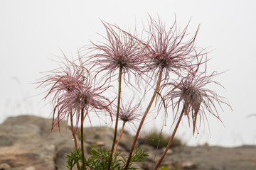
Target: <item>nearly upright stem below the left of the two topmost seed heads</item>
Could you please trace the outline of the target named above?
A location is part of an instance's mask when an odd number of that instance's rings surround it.
[[[113,144],[112,144],[112,149],[111,149],[111,153],[110,153],[110,162],[108,165],[108,170],[110,170],[110,166],[112,163],[112,156],[113,156],[113,152],[114,152],[114,144],[116,142],[116,138],[117,138],[117,126],[118,126],[118,119],[119,119],[119,108],[120,108],[120,101],[121,101],[121,82],[122,82],[122,69],[123,67],[120,66],[119,67],[119,84],[118,84],[118,98],[117,98],[117,118],[116,118],[116,123],[115,123],[115,127],[114,127],[114,139],[113,139]]]

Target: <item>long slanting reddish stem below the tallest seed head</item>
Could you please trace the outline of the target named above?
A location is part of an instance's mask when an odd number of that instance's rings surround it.
[[[158,79],[157,84],[156,84],[156,89],[155,89],[154,94],[153,94],[153,96],[152,96],[152,98],[151,98],[151,101],[149,102],[149,106],[146,108],[146,111],[145,111],[145,113],[144,113],[144,115],[143,115],[143,117],[142,117],[142,120],[141,120],[140,124],[139,124],[139,128],[138,128],[137,133],[136,133],[136,135],[135,135],[135,137],[134,137],[134,142],[132,143],[132,147],[131,147],[131,150],[130,150],[130,152],[129,152],[129,157],[128,157],[128,159],[127,159],[127,164],[125,165],[124,170],[128,169],[129,162],[130,162],[131,159],[132,159],[132,152],[133,152],[133,150],[134,150],[135,144],[136,144],[137,139],[138,139],[138,137],[139,137],[139,132],[140,132],[140,130],[142,129],[142,125],[143,125],[143,123],[144,123],[144,120],[145,120],[145,118],[146,118],[146,115],[147,115],[147,113],[149,113],[149,109],[151,108],[151,106],[152,106],[152,104],[153,104],[153,102],[154,102],[154,99],[156,98],[156,94],[157,94],[158,91],[159,91],[159,87],[160,87],[160,83],[161,83],[162,74],[163,74],[163,69],[161,69],[161,71],[159,72],[159,79]]]

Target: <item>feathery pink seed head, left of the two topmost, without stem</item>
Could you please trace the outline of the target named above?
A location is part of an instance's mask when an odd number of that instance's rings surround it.
[[[97,54],[89,57],[87,62],[95,67],[97,73],[105,72],[103,77],[113,77],[114,72],[122,68],[122,74],[128,74],[124,81],[129,82],[131,72],[135,75],[142,72],[144,57],[139,50],[137,38],[110,23],[103,24],[107,31],[107,42],[101,45],[92,43],[90,50]]]

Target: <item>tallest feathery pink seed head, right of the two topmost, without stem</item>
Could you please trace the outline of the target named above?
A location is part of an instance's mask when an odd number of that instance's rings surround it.
[[[151,74],[159,75],[164,72],[164,79],[169,79],[170,72],[181,75],[181,72],[188,72],[193,68],[193,60],[203,55],[196,52],[194,42],[198,30],[189,40],[186,30],[188,25],[180,32],[174,24],[166,30],[164,23],[150,18],[148,42],[144,50],[144,55],[148,58],[148,67]],[[198,27],[199,29],[199,27]]]

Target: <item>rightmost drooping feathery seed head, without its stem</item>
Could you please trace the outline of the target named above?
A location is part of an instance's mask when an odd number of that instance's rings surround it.
[[[193,134],[196,130],[198,116],[201,122],[201,119],[204,120],[206,118],[206,111],[208,111],[220,120],[216,104],[220,108],[222,108],[222,104],[230,107],[225,98],[205,87],[212,83],[220,85],[218,82],[212,80],[216,75],[218,75],[216,72],[207,76],[205,72],[199,73],[196,71],[188,74],[179,83],[176,81],[169,83],[169,85],[172,85],[172,90],[164,96],[167,106],[172,106],[173,111],[175,109],[178,111],[180,106],[183,107],[181,114],[188,116],[188,123],[192,121]]]

